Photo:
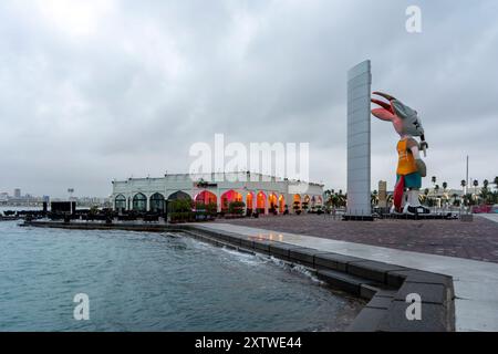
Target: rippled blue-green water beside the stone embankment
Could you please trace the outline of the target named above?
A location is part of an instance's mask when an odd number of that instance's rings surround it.
[[[362,304],[299,269],[172,233],[0,222],[0,331],[341,331]],[[90,321],[73,298],[90,296]]]

